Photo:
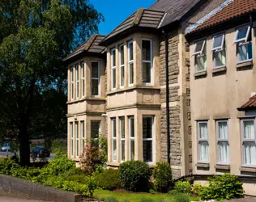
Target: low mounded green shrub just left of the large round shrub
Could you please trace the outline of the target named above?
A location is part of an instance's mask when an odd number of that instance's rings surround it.
[[[103,189],[113,191],[121,187],[119,170],[104,170],[103,173],[96,176],[97,186]]]

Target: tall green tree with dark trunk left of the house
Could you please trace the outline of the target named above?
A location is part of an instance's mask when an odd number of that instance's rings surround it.
[[[36,119],[45,115],[41,100],[65,86],[62,58],[98,32],[102,19],[87,0],[0,1],[0,132],[19,140],[22,165]]]

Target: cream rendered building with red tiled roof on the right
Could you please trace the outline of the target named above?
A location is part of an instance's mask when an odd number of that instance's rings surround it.
[[[245,194],[252,196],[256,196],[255,11],[254,0],[226,1],[214,14],[186,28],[193,172],[238,175]]]

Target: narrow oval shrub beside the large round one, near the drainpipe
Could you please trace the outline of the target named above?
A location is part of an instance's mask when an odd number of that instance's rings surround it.
[[[153,170],[154,187],[156,191],[169,191],[172,181],[172,169],[168,162],[158,162]]]

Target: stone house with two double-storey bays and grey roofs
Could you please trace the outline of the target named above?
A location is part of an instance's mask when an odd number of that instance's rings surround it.
[[[186,27],[224,2],[158,0],[66,57],[68,156],[79,161],[86,139],[101,133],[110,167],[167,161],[173,178],[193,174]]]

